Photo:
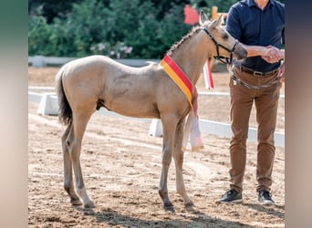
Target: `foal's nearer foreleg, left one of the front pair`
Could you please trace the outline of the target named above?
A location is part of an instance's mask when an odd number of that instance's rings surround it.
[[[163,145],[162,145],[162,167],[161,167],[161,181],[159,186],[159,194],[161,196],[163,205],[166,209],[171,210],[172,202],[168,196],[168,171],[172,162],[172,150],[173,150],[173,135],[176,128],[175,124],[172,124],[171,120],[162,120],[163,129]]]

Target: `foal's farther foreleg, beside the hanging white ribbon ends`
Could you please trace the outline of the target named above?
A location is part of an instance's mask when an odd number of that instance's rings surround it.
[[[183,126],[184,119],[178,123],[177,130],[175,133],[175,141],[174,141],[174,150],[173,150],[173,158],[175,163],[175,175],[176,175],[176,189],[177,192],[182,196],[185,205],[193,205],[191,199],[186,193],[183,173],[182,173],[182,165],[183,165],[183,156],[184,153],[182,151],[182,134],[183,134]]]

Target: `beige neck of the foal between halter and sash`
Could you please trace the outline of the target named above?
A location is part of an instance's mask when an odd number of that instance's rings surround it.
[[[202,73],[203,65],[208,57],[207,53],[210,52],[209,48],[211,48],[209,43],[203,34],[196,34],[172,53],[172,58],[190,78],[192,85],[197,83]]]

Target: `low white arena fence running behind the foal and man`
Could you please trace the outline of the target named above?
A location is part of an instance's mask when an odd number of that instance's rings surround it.
[[[55,88],[52,87],[29,87],[28,88],[28,101],[39,103],[37,114],[40,115],[57,115],[57,95],[54,92]],[[34,92],[36,91],[36,92]],[[199,96],[229,96],[226,92],[198,92]],[[285,98],[281,96],[280,98]],[[99,109],[97,113],[111,117],[129,118],[124,117],[113,111],[107,109]],[[131,119],[131,118],[129,118]],[[149,134],[156,137],[162,136],[162,126],[160,119],[140,119],[150,122]],[[218,135],[226,138],[232,137],[230,124],[217,122],[207,119],[199,119],[200,130],[205,133]],[[257,141],[257,130],[249,128],[248,140]],[[275,141],[277,147],[285,147],[285,132],[275,132]]]

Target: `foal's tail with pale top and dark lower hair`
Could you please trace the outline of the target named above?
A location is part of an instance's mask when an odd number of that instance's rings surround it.
[[[57,82],[57,100],[58,100],[58,119],[61,123],[68,125],[72,121],[73,112],[69,106],[68,98],[66,98],[63,88],[64,67],[62,67],[56,76]]]

